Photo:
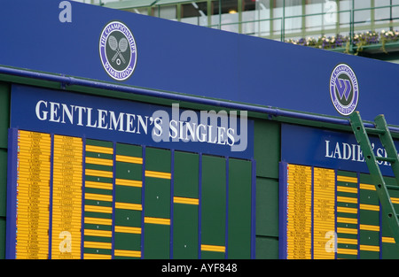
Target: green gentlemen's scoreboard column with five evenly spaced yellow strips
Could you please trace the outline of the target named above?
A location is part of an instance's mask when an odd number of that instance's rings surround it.
[[[114,258],[141,258],[142,148],[116,143]]]

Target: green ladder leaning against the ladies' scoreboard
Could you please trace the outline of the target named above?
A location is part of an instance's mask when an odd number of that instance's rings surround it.
[[[372,176],[375,189],[379,196],[379,202],[382,207],[382,217],[387,219],[388,226],[391,229],[392,235],[395,239],[395,244],[399,250],[399,214],[395,212],[395,207],[392,204],[388,189],[399,190],[399,158],[395,148],[394,140],[387,127],[387,121],[384,115],[379,115],[374,119],[374,128],[364,127],[363,120],[359,112],[353,112],[350,117],[350,124],[356,136],[356,141],[359,143],[363,151],[363,156],[366,161],[369,172]],[[387,151],[387,158],[376,157],[372,151],[372,144],[370,143],[370,135],[379,135],[379,140]],[[390,163],[395,174],[396,186],[388,186],[379,170],[377,161],[385,161]]]

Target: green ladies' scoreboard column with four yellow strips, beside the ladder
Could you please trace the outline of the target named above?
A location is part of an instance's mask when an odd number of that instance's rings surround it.
[[[359,181],[359,257],[379,258],[379,196],[370,175]]]

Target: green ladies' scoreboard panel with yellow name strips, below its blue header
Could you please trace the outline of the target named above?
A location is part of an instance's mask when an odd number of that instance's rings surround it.
[[[280,171],[280,258],[397,258],[368,174],[286,163]]]

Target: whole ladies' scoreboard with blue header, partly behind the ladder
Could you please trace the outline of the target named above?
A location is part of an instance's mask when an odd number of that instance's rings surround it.
[[[356,150],[353,138],[287,125],[282,127],[282,135],[280,258],[395,257],[391,256],[395,255],[395,241],[381,216],[379,197],[364,159],[361,153],[349,151]],[[383,153],[376,140],[372,143],[377,153]],[[341,145],[347,147],[340,152]],[[305,152],[307,156],[302,156]],[[381,164],[387,184],[395,184],[387,167]],[[390,195],[399,207],[398,192]]]

